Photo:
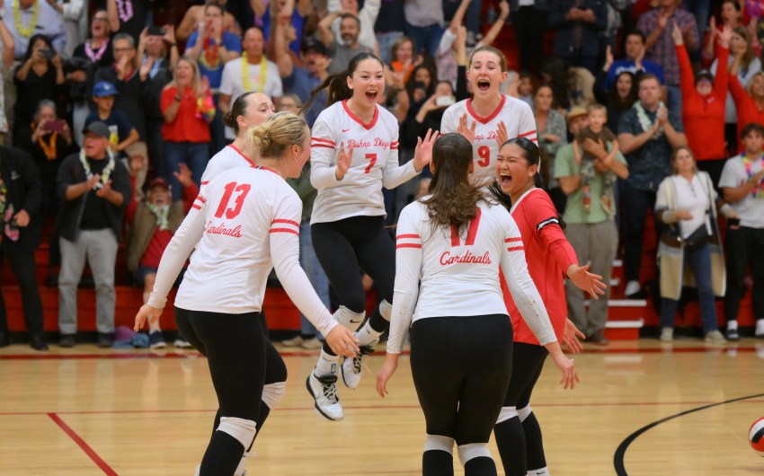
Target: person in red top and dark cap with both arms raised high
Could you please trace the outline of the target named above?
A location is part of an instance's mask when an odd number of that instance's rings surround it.
[[[680,63],[680,87],[682,92],[682,123],[689,148],[697,156],[697,167],[711,175],[714,185],[719,183],[726,161],[724,140],[724,103],[727,100],[729,74],[727,61],[730,56],[730,40],[733,31],[724,26],[719,33],[719,56],[714,78],[708,71],[692,73],[687,49],[679,27],[674,24],[671,36],[677,48]]]

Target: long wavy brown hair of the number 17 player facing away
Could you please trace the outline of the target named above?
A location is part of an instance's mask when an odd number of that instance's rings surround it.
[[[433,226],[456,225],[459,232],[476,216],[479,200],[484,199],[479,185],[469,181],[472,144],[460,134],[438,137],[432,148],[435,173],[430,182],[431,197],[422,199]]]

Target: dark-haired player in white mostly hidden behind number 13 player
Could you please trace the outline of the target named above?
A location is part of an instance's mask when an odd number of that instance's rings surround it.
[[[215,154],[201,175],[202,187],[221,172],[256,163],[255,152],[250,150],[247,133],[270,118],[276,112],[271,98],[263,93],[243,93],[234,101],[231,110],[223,116],[223,123],[234,129],[236,138],[232,144]]]

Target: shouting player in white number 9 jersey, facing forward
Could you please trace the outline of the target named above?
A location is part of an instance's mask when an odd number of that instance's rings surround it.
[[[478,181],[493,178],[499,154],[496,138],[502,132],[507,137],[525,137],[537,143],[533,110],[526,102],[500,92],[507,75],[507,59],[501,51],[493,47],[476,48],[466,71],[475,95],[449,106],[440,121],[441,134],[471,130],[473,137],[467,138],[472,142]]]

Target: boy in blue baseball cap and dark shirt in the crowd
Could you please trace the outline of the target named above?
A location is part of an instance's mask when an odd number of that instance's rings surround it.
[[[84,119],[84,127],[87,128],[95,121],[102,121],[109,128],[109,147],[111,152],[119,153],[120,156],[129,145],[138,142],[138,130],[128,120],[121,110],[114,109],[114,96],[119,94],[114,84],[108,81],[99,81],[93,85],[93,102],[96,110],[93,110]]]

